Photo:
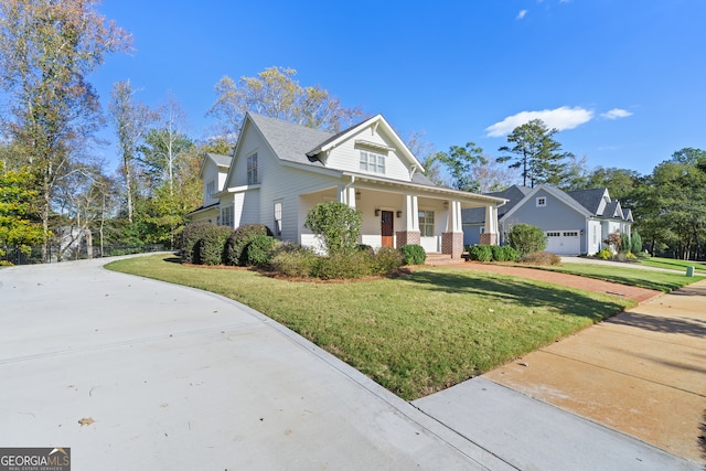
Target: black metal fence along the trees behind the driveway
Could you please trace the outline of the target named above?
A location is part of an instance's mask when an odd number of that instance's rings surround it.
[[[93,247],[68,248],[63,251],[58,246],[49,245],[46,247],[46,260],[42,260],[42,247],[33,246],[29,253],[20,250],[18,247],[3,247],[4,255],[0,255],[0,265],[32,265],[68,260],[84,260],[88,258],[116,257],[119,255],[146,254],[150,251],[165,250],[162,244],[150,245],[104,245]]]

